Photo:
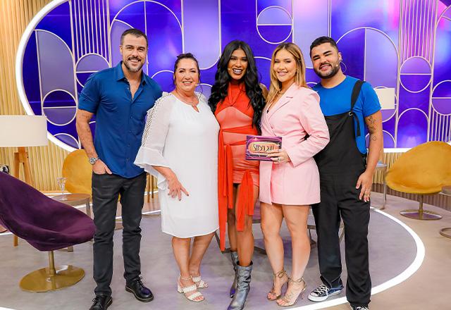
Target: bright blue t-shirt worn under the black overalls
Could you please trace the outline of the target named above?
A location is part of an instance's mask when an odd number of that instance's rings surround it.
[[[318,92],[320,100],[319,105],[324,116],[333,116],[351,109],[351,94],[354,84],[357,82],[355,77],[346,75],[345,80],[332,88],[324,88],[321,83],[316,84],[313,89]],[[366,154],[365,143],[365,121],[364,118],[381,110],[378,96],[374,92],[369,82],[364,82],[360,90],[359,97],[354,104],[352,111],[359,118],[360,136],[357,137],[357,122],[354,119],[354,130],[356,135],[357,147],[360,153]]]

